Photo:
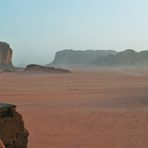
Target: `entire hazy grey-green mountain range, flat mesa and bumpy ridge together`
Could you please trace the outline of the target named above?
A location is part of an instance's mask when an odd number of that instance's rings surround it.
[[[57,67],[121,67],[143,66],[148,64],[148,50],[136,52],[132,49],[116,52],[113,50],[62,50],[50,64]]]

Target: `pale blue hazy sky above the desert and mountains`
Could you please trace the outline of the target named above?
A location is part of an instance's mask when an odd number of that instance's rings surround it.
[[[148,49],[148,0],[1,0],[0,40],[15,64],[62,49]]]

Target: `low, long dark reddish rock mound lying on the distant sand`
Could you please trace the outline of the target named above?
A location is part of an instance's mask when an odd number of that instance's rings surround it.
[[[46,72],[46,73],[70,73],[70,71],[67,69],[46,67],[46,66],[41,66],[41,65],[36,65],[36,64],[27,65],[25,68],[25,71]]]

